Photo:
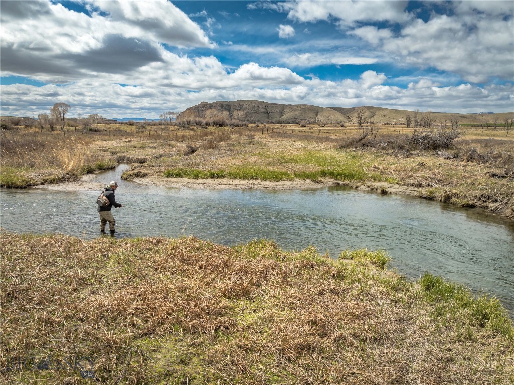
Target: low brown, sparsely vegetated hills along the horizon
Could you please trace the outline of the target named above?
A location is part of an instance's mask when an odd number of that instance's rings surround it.
[[[187,108],[180,116],[195,118],[206,118],[206,112],[214,110],[217,113],[228,113],[230,118],[234,113],[240,119],[250,123],[280,123],[298,124],[322,123],[340,124],[356,123],[357,108],[364,109],[364,119],[376,123],[403,123],[405,116],[412,111],[403,109],[391,109],[383,107],[362,106],[362,107],[319,107],[309,104],[279,104],[268,103],[259,100],[236,100],[236,101],[217,101],[213,103],[201,102]],[[421,113],[421,112],[420,112]],[[503,123],[503,119],[512,116],[512,113],[501,114],[459,114],[459,113],[432,113],[436,120],[449,120],[458,117],[463,124],[480,124],[486,119],[493,122]]]

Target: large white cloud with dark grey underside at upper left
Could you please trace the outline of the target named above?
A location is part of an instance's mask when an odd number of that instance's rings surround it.
[[[48,0],[0,2],[3,75],[66,83],[127,74],[162,62],[160,43],[214,47],[206,33],[167,0],[85,3],[90,15]]]

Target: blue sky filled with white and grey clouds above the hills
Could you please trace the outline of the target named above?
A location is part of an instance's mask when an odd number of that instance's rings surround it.
[[[514,111],[514,2],[1,0],[1,113]]]

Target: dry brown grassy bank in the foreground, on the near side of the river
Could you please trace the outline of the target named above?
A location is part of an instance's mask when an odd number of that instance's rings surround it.
[[[406,282],[381,252],[0,236],[5,383],[91,383],[80,368],[108,384],[514,381],[496,301]]]

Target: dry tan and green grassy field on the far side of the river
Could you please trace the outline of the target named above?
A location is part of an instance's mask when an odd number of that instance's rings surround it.
[[[76,180],[126,161],[132,169],[123,177],[146,184],[196,180],[226,186],[224,181],[247,180],[257,188],[260,182],[284,181],[295,181],[295,187],[298,182],[367,186],[514,217],[514,136],[501,129],[463,127],[442,149],[420,148],[410,142],[412,130],[387,125],[363,139],[363,130],[354,126],[111,125],[89,135],[68,129],[66,139],[24,130],[2,132],[4,187]]]

